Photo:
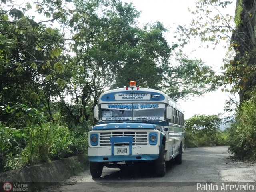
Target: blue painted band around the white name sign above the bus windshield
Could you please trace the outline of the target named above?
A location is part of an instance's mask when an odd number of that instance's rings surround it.
[[[115,94],[140,94],[140,93],[142,93],[142,94],[149,93],[150,94],[150,100],[146,100],[146,101],[163,101],[165,99],[165,96],[163,94],[158,93],[158,92],[133,90],[133,91],[118,91],[118,92],[102,94],[100,96],[100,100],[106,101],[106,102],[117,101],[117,100],[115,100]],[[151,97],[152,95],[159,95],[159,96],[157,98],[152,98]],[[138,100],[126,100],[126,101],[131,101],[132,102],[132,101],[138,101]],[[142,100],[139,100],[139,101],[142,101]]]

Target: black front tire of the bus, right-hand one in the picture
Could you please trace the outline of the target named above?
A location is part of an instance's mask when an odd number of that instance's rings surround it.
[[[155,160],[155,172],[156,176],[163,177],[166,173],[166,158],[165,158],[165,151],[164,151],[164,145],[162,144],[161,150],[159,153],[159,157],[157,160]]]

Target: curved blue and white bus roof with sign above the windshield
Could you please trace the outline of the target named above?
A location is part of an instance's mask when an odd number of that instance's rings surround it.
[[[150,88],[117,88],[104,92],[99,97],[102,103],[166,103],[183,113],[182,108],[162,91]]]

